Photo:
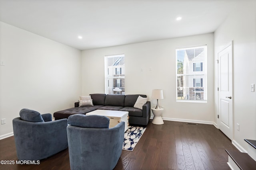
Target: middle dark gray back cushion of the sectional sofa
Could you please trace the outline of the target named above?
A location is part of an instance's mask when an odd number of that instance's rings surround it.
[[[125,95],[122,95],[122,94],[107,94],[104,105],[124,107],[124,98],[125,98]]]

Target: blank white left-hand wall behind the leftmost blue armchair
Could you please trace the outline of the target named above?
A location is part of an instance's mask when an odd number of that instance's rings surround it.
[[[54,113],[82,92],[81,51],[0,22],[0,139],[22,108]]]

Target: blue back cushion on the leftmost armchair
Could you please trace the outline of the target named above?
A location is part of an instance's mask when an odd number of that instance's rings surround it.
[[[21,109],[20,118],[25,121],[44,122],[42,115],[38,111],[30,109]]]

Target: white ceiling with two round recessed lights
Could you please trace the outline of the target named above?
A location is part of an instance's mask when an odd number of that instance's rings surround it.
[[[0,0],[0,21],[86,50],[211,33],[238,2],[245,1]]]

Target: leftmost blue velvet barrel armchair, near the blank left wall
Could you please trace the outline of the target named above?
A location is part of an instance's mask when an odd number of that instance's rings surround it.
[[[52,121],[50,113],[22,109],[12,125],[19,160],[41,160],[68,148],[67,119]]]

